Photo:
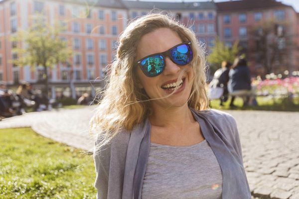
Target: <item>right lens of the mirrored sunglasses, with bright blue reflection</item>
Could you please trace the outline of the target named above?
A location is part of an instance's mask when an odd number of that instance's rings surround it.
[[[192,50],[188,44],[182,44],[171,50],[173,61],[179,65],[186,65],[192,60]]]

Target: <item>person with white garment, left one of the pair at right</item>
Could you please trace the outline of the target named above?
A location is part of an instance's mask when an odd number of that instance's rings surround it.
[[[221,63],[221,68],[218,69],[214,73],[214,78],[217,79],[217,85],[216,87],[223,88],[223,94],[220,97],[220,105],[223,105],[223,102],[226,102],[228,99],[228,89],[227,89],[227,83],[229,81],[229,70],[231,67],[231,63],[228,61],[223,61]]]

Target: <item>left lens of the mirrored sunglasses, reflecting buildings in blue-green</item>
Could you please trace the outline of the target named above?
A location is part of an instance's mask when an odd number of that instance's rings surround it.
[[[164,59],[161,55],[150,56],[141,61],[141,67],[147,76],[157,76],[163,71]]]

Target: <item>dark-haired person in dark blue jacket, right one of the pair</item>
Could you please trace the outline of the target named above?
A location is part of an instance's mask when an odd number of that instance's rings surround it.
[[[243,106],[248,105],[252,96],[251,77],[247,60],[243,56],[235,59],[229,71],[228,92],[232,96],[230,107],[237,107],[234,104],[237,96],[243,98]]]

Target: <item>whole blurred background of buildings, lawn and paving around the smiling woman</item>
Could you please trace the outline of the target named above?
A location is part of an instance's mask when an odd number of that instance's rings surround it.
[[[1,199],[96,197],[91,104],[126,25],[162,11],[204,49],[210,106],[235,109],[252,198],[299,199],[298,0],[0,0]]]

